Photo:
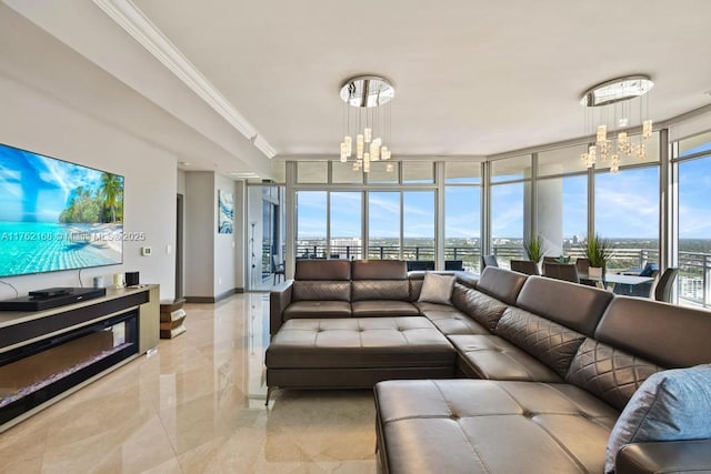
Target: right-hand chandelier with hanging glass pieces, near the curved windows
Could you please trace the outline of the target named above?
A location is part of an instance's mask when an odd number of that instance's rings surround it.
[[[644,142],[652,138],[652,121],[645,118],[649,114],[649,95],[645,94],[653,85],[649,75],[637,74],[604,81],[585,91],[580,99],[580,104],[588,108],[585,134],[592,129],[595,135],[594,144],[589,145],[580,157],[588,168],[592,168],[598,160],[609,160],[610,172],[617,173],[620,171],[620,159],[647,158]],[[641,125],[639,140],[633,140],[627,132],[632,127],[635,109],[639,110],[638,124]]]

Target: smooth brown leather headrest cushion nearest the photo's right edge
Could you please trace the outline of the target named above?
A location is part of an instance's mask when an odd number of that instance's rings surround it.
[[[690,367],[711,361],[709,326],[709,312],[704,310],[615,296],[595,330],[595,339],[664,369]]]

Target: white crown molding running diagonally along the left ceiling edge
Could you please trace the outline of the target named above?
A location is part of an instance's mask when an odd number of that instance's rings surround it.
[[[277,154],[244,115],[202,75],[198,68],[131,0],[93,0],[93,2],[262,153],[270,159]]]

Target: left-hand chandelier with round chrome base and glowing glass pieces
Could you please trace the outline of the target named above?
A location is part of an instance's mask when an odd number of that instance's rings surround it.
[[[385,140],[390,137],[390,101],[394,94],[390,81],[379,75],[357,75],[343,83],[340,93],[346,103],[341,162],[351,160],[353,170],[362,169],[368,173],[371,162],[390,160]],[[353,118],[351,108],[354,108]],[[390,163],[385,167],[388,172],[393,169]]]

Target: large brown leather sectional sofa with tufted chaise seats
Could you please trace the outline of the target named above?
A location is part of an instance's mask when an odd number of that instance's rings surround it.
[[[382,472],[601,473],[640,384],[711,362],[705,311],[495,268],[458,282],[451,305],[423,303],[422,275],[403,278],[401,263],[299,262],[296,281],[271,294],[268,385],[384,381],[374,389]],[[617,456],[618,473],[704,470],[711,440]]]

